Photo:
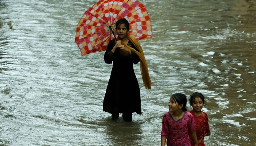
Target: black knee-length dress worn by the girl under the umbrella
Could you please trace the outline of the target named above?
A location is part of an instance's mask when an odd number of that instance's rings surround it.
[[[115,43],[115,40],[109,42],[104,55],[107,64],[112,64],[113,61],[113,68],[103,101],[103,111],[111,114],[142,114],[140,88],[133,70],[133,63],[138,64],[140,59],[133,51],[129,56],[122,55],[118,48],[113,53],[111,50]],[[127,45],[138,50],[131,41]]]

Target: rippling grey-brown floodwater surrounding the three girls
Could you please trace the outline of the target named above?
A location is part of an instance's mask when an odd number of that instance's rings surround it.
[[[105,52],[81,56],[75,43],[97,0],[0,1],[1,146],[157,146],[170,95],[195,91],[207,97],[207,146],[256,145],[256,1],[140,1],[154,35],[140,41],[152,89],[134,65],[142,115],[131,123],[102,111]]]

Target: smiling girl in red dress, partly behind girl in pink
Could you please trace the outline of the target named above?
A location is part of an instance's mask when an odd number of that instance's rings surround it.
[[[193,107],[193,110],[189,112],[193,115],[196,122],[196,137],[198,146],[205,146],[204,137],[209,136],[211,132],[208,124],[207,114],[206,112],[201,111],[204,105],[204,96],[202,93],[195,92],[190,96],[189,103]],[[193,146],[193,142],[191,143]]]

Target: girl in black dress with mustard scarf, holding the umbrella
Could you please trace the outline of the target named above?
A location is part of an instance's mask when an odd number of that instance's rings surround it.
[[[103,111],[112,114],[116,120],[123,113],[125,121],[132,121],[132,113],[142,114],[140,88],[133,70],[133,64],[140,62],[142,78],[146,89],[151,89],[147,63],[141,46],[135,38],[128,35],[129,22],[120,19],[116,22],[118,37],[109,42],[104,60],[112,64],[108,87],[103,101]]]

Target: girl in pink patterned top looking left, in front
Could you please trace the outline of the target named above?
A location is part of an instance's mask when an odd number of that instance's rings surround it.
[[[197,145],[196,124],[191,113],[186,108],[187,97],[175,93],[170,97],[169,112],[163,115],[161,146],[192,146],[189,135]]]

